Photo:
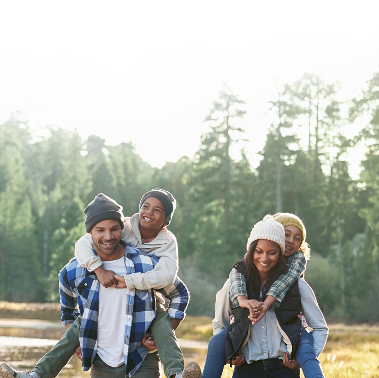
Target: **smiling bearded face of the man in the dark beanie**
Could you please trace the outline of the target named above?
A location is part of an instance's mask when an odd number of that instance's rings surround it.
[[[92,228],[92,242],[96,253],[102,260],[113,257],[120,245],[121,225],[113,219],[101,221]]]

